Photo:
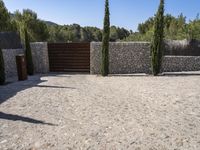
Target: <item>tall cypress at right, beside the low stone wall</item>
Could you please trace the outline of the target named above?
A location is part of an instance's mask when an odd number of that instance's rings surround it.
[[[154,76],[160,73],[163,55],[164,38],[164,0],[160,0],[160,6],[155,16],[154,35],[151,43],[151,65]]]

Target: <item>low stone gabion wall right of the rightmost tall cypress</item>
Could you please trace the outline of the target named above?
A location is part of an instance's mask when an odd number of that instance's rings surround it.
[[[200,71],[200,56],[165,56],[162,72]]]

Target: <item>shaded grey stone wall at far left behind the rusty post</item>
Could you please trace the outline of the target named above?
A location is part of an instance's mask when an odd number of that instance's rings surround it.
[[[17,76],[16,55],[24,54],[23,49],[3,49],[6,78]]]

